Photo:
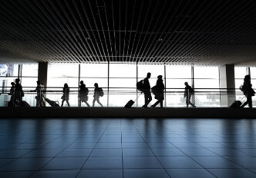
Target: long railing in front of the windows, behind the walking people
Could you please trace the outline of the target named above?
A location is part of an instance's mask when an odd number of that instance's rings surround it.
[[[1,88],[0,88],[1,89]],[[2,88],[0,95],[0,107],[8,107],[8,101],[11,100],[9,94],[10,87]],[[26,101],[31,107],[36,106],[36,92],[35,87],[23,87],[24,97],[22,101]],[[93,105],[93,93],[94,88],[89,88],[89,100],[87,101],[90,106]],[[123,107],[128,101],[135,100],[139,96],[140,91],[136,91],[135,87],[109,87],[104,88],[104,96],[99,98],[99,101],[104,107]],[[185,107],[186,101],[184,98],[184,88],[166,88],[164,93],[163,107]],[[227,107],[221,105],[221,97],[233,95],[236,98],[234,100],[241,100],[244,94],[237,88],[195,88],[194,95],[191,101],[196,104],[197,107]],[[47,87],[44,96],[50,101],[56,101],[61,105],[62,103],[62,87]],[[154,104],[157,100],[154,99],[152,94],[152,101],[149,104]],[[79,88],[70,87],[69,104],[71,107],[79,106]],[[144,104],[143,94],[138,98],[133,107],[141,107]],[[256,105],[256,101],[253,100],[253,105]],[[45,101],[45,106],[50,107],[50,104]],[[67,107],[66,101],[64,107]],[[86,107],[85,103],[82,103],[82,107]],[[99,107],[97,102],[95,107]]]

